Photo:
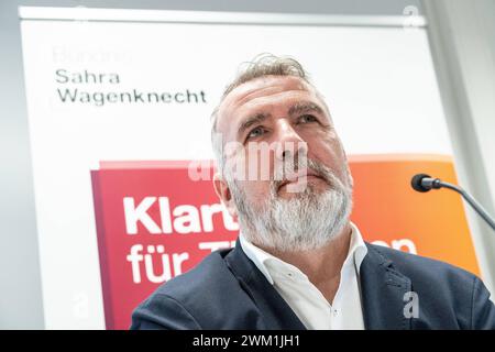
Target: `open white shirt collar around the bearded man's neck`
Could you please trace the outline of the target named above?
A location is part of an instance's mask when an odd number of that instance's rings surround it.
[[[350,222],[351,226],[351,241],[349,244],[349,252],[345,261],[342,265],[342,271],[350,265],[356,265],[358,272],[360,271],[361,263],[367,253],[366,244],[361,235],[358,227]],[[289,275],[299,279],[308,279],[306,274],[304,274],[298,267],[282,261],[280,258],[263,251],[258,246],[254,245],[242,234],[239,234],[239,240],[241,248],[245,255],[256,265],[256,267],[263,273],[270,284],[274,284],[274,276],[277,275]]]

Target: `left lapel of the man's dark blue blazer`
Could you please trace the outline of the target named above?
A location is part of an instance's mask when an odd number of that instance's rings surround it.
[[[284,298],[242,251],[239,239],[234,250],[226,256],[226,262],[241,287],[257,306],[266,330],[306,330]]]

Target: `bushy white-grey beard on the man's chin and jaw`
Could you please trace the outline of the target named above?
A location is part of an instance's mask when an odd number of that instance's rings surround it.
[[[342,231],[352,211],[352,189],[323,165],[309,160],[308,165],[324,176],[329,189],[318,193],[308,184],[290,199],[280,199],[272,182],[270,198],[260,209],[248,205],[243,189],[231,183],[240,228],[250,242],[283,252],[309,251],[322,248]]]

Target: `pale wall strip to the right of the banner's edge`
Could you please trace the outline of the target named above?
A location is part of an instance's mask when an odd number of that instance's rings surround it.
[[[424,1],[424,9],[460,183],[495,215],[495,1]],[[468,215],[495,293],[495,233]]]

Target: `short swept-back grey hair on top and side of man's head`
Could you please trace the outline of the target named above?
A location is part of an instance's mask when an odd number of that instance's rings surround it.
[[[220,172],[223,170],[226,156],[222,152],[223,143],[221,135],[219,135],[217,131],[219,107],[233,89],[242,84],[264,76],[298,77],[308,85],[312,86],[309,81],[308,73],[305,72],[302,65],[294,58],[287,56],[275,56],[273,54],[265,53],[257,55],[251,62],[244,63],[244,67],[241,66],[238,70],[238,75],[234,80],[227,86],[222,97],[220,98],[219,105],[211,113],[211,144],[213,147],[215,157],[217,160],[217,166]]]

